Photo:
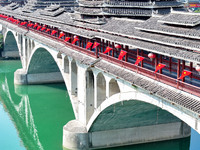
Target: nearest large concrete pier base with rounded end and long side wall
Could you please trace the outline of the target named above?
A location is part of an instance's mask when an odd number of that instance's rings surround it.
[[[184,122],[173,122],[124,129],[87,132],[73,120],[63,128],[63,146],[67,149],[95,149],[131,144],[173,140],[190,136],[191,128]]]

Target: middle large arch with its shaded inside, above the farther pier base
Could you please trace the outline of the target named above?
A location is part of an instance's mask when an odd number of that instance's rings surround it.
[[[41,53],[39,54],[37,51],[40,51]],[[57,59],[57,51],[36,44],[35,48],[30,53],[25,69],[28,84],[57,83],[64,81],[62,66],[58,63]],[[42,64],[38,65],[39,63]]]

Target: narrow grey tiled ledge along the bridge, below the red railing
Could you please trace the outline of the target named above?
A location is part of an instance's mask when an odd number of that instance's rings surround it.
[[[16,25],[7,23],[5,21],[0,21],[1,24],[7,25],[11,29],[15,29],[16,31],[25,34],[26,36],[35,39],[36,41],[40,41],[41,43],[52,47],[62,53],[65,53],[68,56],[73,57],[74,59],[82,62],[83,64],[90,65],[96,59],[94,57],[90,57],[84,54],[80,54],[80,51],[77,51],[77,46],[66,45],[60,40],[55,40],[55,38],[48,38],[40,35],[36,32],[29,31],[27,32],[26,29],[18,28]],[[80,48],[81,49],[81,48]],[[83,52],[83,51],[82,51]],[[94,56],[94,55],[93,55]],[[199,98],[195,96],[191,96],[190,94],[180,92],[179,89],[175,89],[173,87],[168,86],[165,84],[161,84],[153,79],[148,79],[143,75],[140,75],[136,72],[127,70],[125,68],[119,67],[115,64],[109,63],[105,60],[100,60],[94,67],[97,67],[103,71],[111,73],[116,77],[122,78],[129,83],[133,84],[133,86],[140,87],[151,93],[152,95],[156,95],[158,97],[164,98],[167,101],[170,101],[174,105],[178,104],[183,108],[191,110],[197,114],[200,114],[200,101]],[[139,67],[140,68],[140,67]],[[136,70],[135,70],[136,71]]]

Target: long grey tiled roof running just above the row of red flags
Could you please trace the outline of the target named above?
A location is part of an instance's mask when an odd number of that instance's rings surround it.
[[[4,10],[0,10],[0,12],[4,12]],[[15,16],[16,18],[21,16],[22,19],[24,18],[33,22],[57,27],[60,30],[86,38],[102,38],[115,43],[129,45],[130,47],[140,48],[146,51],[151,51],[170,57],[193,62],[200,62],[199,53],[188,51],[200,50],[200,47],[198,46],[198,39],[200,38],[197,38],[196,40],[191,40],[183,36],[174,37],[173,35],[171,35],[171,33],[173,32],[170,32],[168,35],[157,34],[156,32],[159,29],[158,26],[173,29],[174,31],[176,31],[176,29],[179,29],[179,27],[172,27],[158,22],[161,17],[152,17],[147,21],[124,18],[110,18],[105,19],[104,24],[91,24],[87,21],[84,22],[76,19],[74,20],[70,13],[63,13],[53,17],[42,16],[40,12],[41,10],[39,9],[34,11],[33,13],[22,13],[20,9],[9,11],[10,15]],[[78,18],[78,16],[76,17]],[[95,19],[90,21],[92,22],[94,20]],[[145,28],[149,26],[157,29],[155,33],[152,33],[152,31],[151,33],[144,32],[147,31],[145,30]],[[86,30],[84,28],[89,28],[91,30]],[[188,33],[190,30],[196,30],[196,33],[199,33],[197,29],[183,29],[186,30],[186,33]],[[182,29],[180,30],[182,31]]]

